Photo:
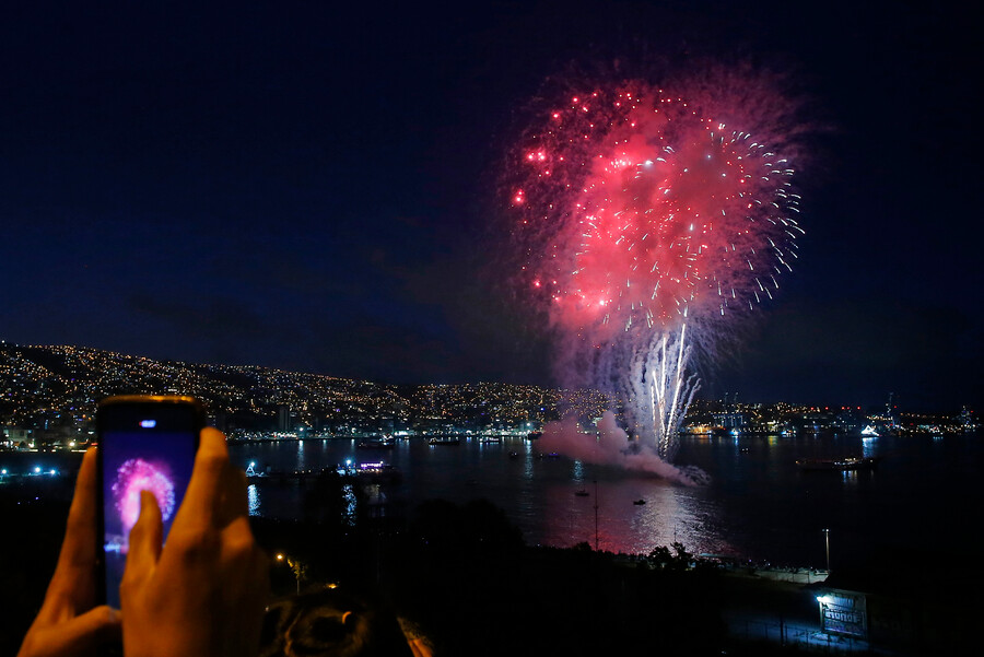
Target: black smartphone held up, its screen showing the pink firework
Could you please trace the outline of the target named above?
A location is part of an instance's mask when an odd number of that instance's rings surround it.
[[[191,479],[204,408],[194,397],[109,397],[96,410],[98,441],[99,600],[119,609],[119,583],[130,529],[140,516],[140,492],[157,500],[164,540]]]

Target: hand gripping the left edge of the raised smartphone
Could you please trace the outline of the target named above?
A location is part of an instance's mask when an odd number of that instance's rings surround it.
[[[95,448],[82,459],[55,575],[17,657],[74,657],[119,641],[119,614],[96,597]]]

